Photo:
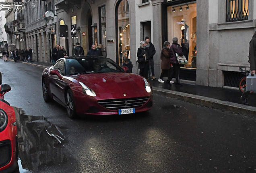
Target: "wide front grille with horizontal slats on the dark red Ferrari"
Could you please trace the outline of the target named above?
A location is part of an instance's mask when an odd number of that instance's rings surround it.
[[[149,97],[135,97],[128,99],[109,99],[101,100],[98,103],[106,109],[118,110],[126,108],[136,108],[144,105],[149,100]]]

